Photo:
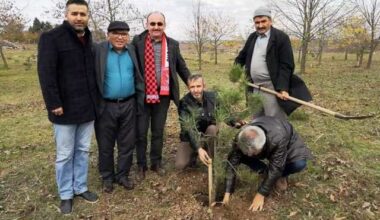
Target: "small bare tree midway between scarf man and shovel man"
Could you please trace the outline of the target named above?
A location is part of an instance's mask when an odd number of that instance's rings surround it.
[[[218,47],[222,44],[223,39],[229,37],[236,31],[237,24],[233,18],[224,13],[209,14],[208,24],[210,42],[214,48],[214,63],[218,64]]]

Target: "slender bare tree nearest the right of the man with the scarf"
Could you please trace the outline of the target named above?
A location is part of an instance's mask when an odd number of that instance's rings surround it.
[[[198,0],[193,5],[193,20],[190,29],[187,30],[191,39],[193,40],[194,47],[198,56],[198,69],[202,69],[202,54],[205,50],[205,45],[208,41],[209,24],[206,16],[202,11],[202,2]]]

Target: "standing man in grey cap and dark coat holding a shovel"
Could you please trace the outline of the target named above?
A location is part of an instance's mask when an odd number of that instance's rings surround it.
[[[279,92],[277,97],[247,88],[248,92],[264,97],[263,110],[255,116],[274,116],[285,119],[299,105],[286,101],[289,95],[305,101],[311,95],[304,82],[293,75],[294,58],[289,36],[272,27],[271,11],[260,7],[254,12],[256,31],[247,39],[235,63],[245,66],[248,81]]]

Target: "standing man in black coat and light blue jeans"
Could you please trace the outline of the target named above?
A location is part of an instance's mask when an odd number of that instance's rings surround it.
[[[96,202],[88,191],[88,159],[96,116],[96,82],[88,5],[66,4],[62,25],[43,33],[38,44],[38,75],[57,147],[56,181],[61,212],[72,211],[74,196]]]

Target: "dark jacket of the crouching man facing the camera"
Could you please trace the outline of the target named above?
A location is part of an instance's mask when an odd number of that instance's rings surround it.
[[[203,103],[198,102],[190,92],[187,93],[179,101],[178,107],[181,141],[190,142],[190,146],[197,150],[199,143],[194,132],[204,133],[209,125],[216,125],[215,108],[216,94],[214,92],[204,91]]]

